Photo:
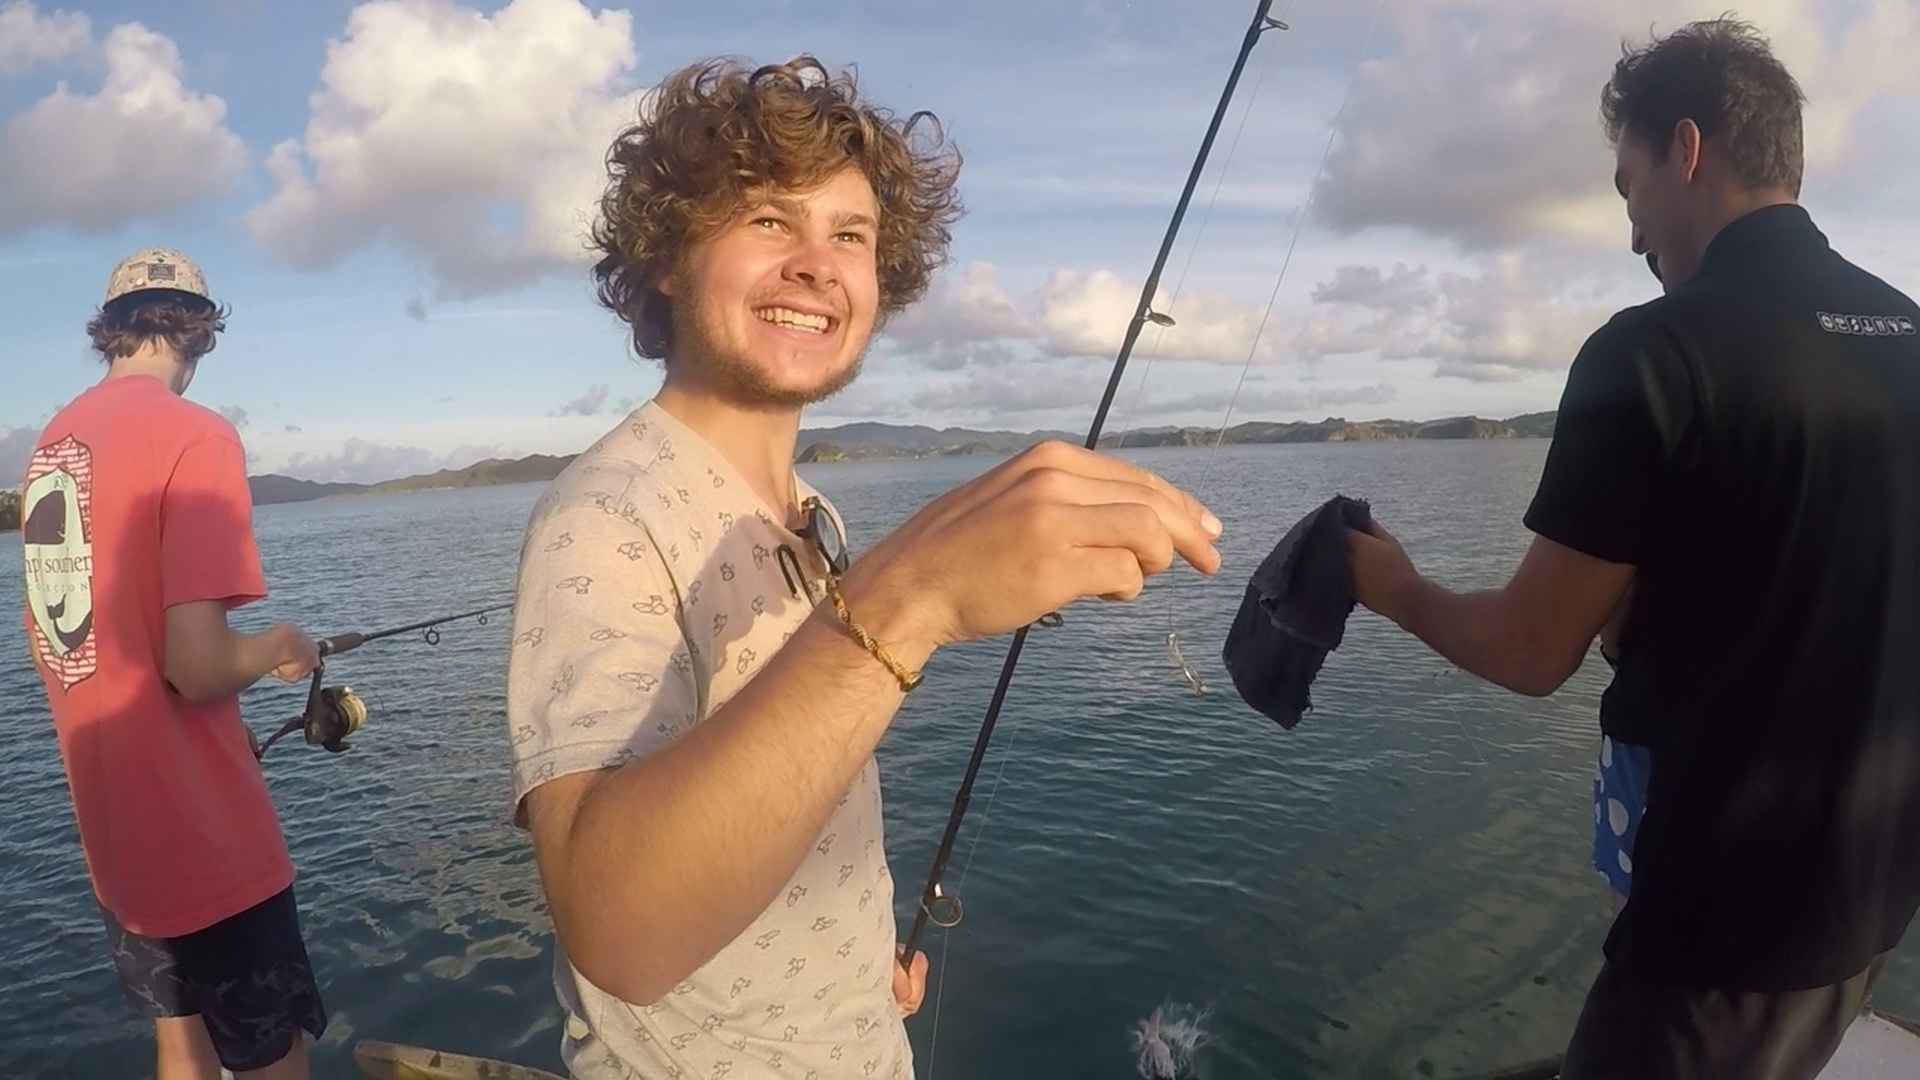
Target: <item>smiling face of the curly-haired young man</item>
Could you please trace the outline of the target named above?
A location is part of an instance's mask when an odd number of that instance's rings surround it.
[[[753,407],[845,388],[879,307],[877,229],[874,188],[854,167],[741,208],[660,282],[674,311],[668,377]]]

